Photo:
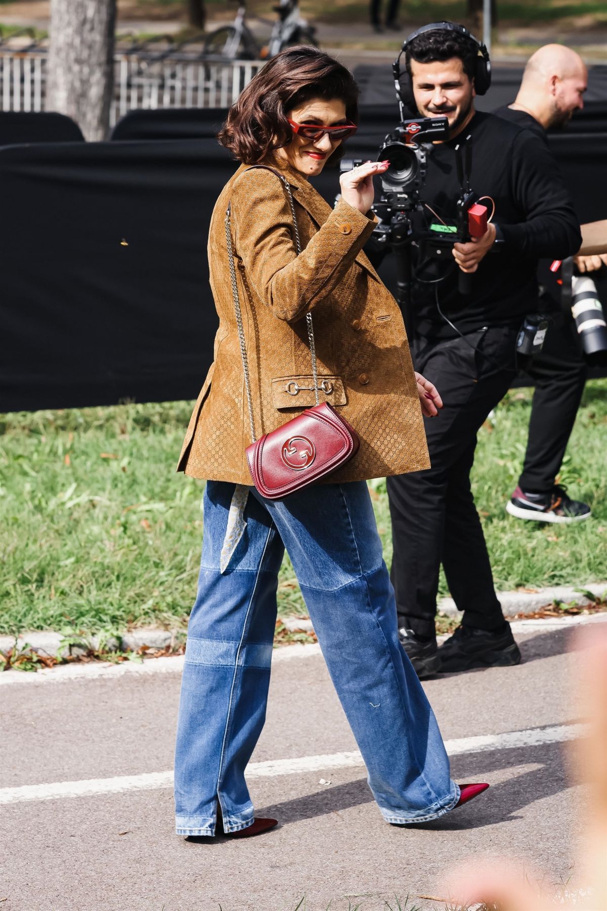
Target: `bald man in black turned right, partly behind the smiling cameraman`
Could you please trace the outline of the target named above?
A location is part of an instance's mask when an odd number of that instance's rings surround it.
[[[545,45],[529,58],[516,100],[494,113],[547,142],[547,129],[564,127],[573,112],[582,109],[587,84],[588,70],[575,51]],[[558,167],[556,162],[554,167]],[[580,271],[601,266],[602,261],[598,256],[576,257]],[[527,451],[519,485],[506,508],[511,516],[536,522],[580,522],[590,517],[590,507],[573,500],[556,483],[556,477],[582,399],[587,368],[574,322],[561,312],[551,313],[551,317],[543,349],[528,368],[535,393]]]

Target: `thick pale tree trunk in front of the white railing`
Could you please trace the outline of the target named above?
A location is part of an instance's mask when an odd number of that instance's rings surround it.
[[[116,0],[51,0],[46,110],[106,138],[114,91]]]

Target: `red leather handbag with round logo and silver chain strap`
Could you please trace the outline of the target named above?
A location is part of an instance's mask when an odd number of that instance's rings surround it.
[[[263,168],[266,166],[254,165],[253,167]],[[266,169],[271,170],[282,180],[287,192],[293,216],[295,246],[299,254],[301,252],[301,241],[299,240],[295,206],[288,180],[273,168],[266,167]],[[312,326],[312,314],[308,313],[306,322],[308,324],[308,340],[312,359],[316,404],[312,408],[307,408],[301,415],[288,421],[287,424],[278,427],[277,430],[272,430],[269,434],[264,434],[260,439],[257,439],[253,417],[251,384],[248,375],[247,345],[242,325],[242,313],[240,311],[236,268],[234,265],[229,206],[226,212],[225,224],[234,309],[236,311],[240,354],[242,356],[242,367],[247,390],[248,420],[253,441],[247,447],[248,468],[253,478],[253,484],[257,487],[261,496],[265,496],[269,500],[278,500],[282,499],[283,496],[288,496],[288,494],[301,490],[302,487],[313,484],[321,477],[329,475],[330,472],[348,462],[359,451],[359,437],[348,421],[344,420],[332,405],[328,402],[319,403],[318,364],[314,343],[314,329]]]

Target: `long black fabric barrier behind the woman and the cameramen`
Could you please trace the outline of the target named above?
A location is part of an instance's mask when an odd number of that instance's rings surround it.
[[[607,138],[553,141],[582,217],[604,217]],[[235,167],[215,138],[0,148],[0,411],[197,395],[217,327],[208,223]],[[332,201],[338,172],[316,185]]]

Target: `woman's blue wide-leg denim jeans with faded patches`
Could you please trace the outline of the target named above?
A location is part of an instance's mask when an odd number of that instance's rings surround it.
[[[209,481],[205,490],[177,724],[177,834],[215,834],[218,803],[226,832],[253,822],[245,769],[266,717],[284,548],[384,819],[420,823],[447,813],[460,789],[400,646],[366,483],[311,486],[281,501],[251,488],[247,526],[222,573],[234,489]]]

